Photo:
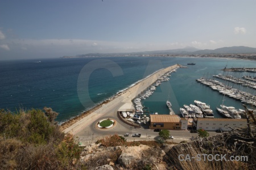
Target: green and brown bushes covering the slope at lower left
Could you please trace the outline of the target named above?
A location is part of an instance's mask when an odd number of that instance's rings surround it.
[[[51,108],[0,111],[0,169],[81,169],[80,148]]]

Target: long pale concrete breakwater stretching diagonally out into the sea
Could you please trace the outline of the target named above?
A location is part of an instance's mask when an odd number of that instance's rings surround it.
[[[141,94],[141,92],[146,90],[147,87],[151,86],[151,84],[156,82],[156,80],[158,80],[165,73],[178,67],[179,65],[173,65],[156,71],[154,74],[135,84],[133,87],[130,87],[127,90],[115,95],[111,100],[105,101],[104,103],[97,105],[89,111],[86,111],[79,116],[65,122],[60,126],[61,130],[63,130],[64,133],[71,132],[76,134],[86,126],[92,124],[92,122],[97,120],[97,118],[104,116],[106,113],[113,112],[114,108],[120,108],[125,104],[130,104],[130,106],[133,107],[131,100]],[[116,115],[116,113],[113,113],[113,115]]]

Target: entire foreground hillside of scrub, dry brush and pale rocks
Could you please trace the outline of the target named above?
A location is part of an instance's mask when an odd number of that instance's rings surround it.
[[[61,133],[51,108],[1,110],[0,169],[255,169],[256,120],[253,111],[246,114],[247,127],[191,142],[127,142],[114,134],[79,147]]]

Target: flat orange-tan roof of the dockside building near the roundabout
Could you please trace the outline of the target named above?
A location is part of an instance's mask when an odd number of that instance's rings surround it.
[[[176,114],[150,114],[150,121],[157,123],[180,122],[180,117]]]

